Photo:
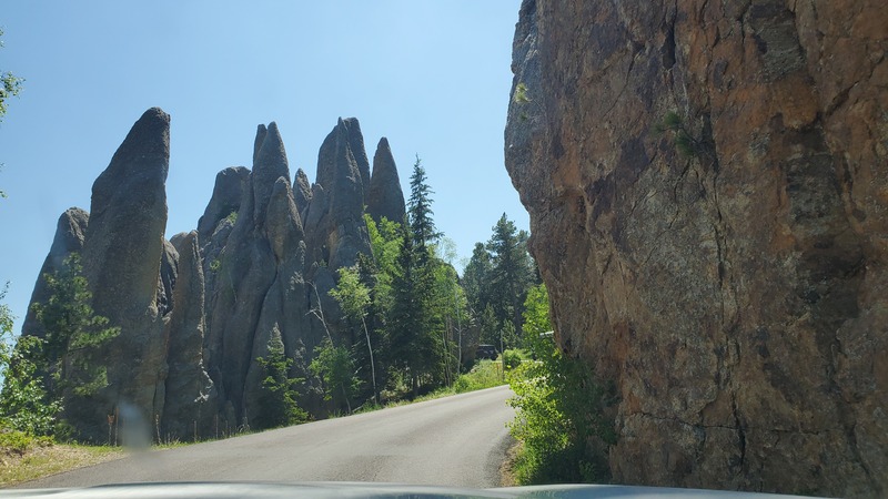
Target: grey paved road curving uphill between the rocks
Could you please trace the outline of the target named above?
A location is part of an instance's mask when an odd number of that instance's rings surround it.
[[[20,487],[157,481],[372,481],[496,487],[514,410],[507,387],[169,450]]]

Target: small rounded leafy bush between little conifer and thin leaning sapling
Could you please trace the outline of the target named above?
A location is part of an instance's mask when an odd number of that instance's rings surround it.
[[[355,376],[354,361],[349,348],[335,346],[330,338],[324,338],[314,348],[315,358],[309,365],[314,376],[321,379],[324,400],[333,401],[334,407],[352,411],[351,400],[354,398],[361,380]]]

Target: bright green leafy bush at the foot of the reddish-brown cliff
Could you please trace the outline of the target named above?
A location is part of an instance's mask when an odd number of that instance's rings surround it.
[[[524,444],[518,481],[606,481],[607,446],[616,444],[613,421],[603,414],[612,403],[608,390],[587,363],[565,356],[548,335],[528,336],[527,343],[537,361],[521,364],[509,377],[509,405],[517,409],[509,430]]]

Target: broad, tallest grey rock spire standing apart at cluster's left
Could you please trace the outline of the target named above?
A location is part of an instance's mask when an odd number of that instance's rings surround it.
[[[87,438],[105,436],[105,417],[121,405],[137,408],[133,418],[144,421],[162,411],[163,399],[158,395],[165,368],[159,296],[169,161],[170,116],[150,109],[92,186],[83,275],[93,294],[93,309],[121,333],[107,348],[110,385],[98,403],[82,400],[84,407],[69,407],[80,415]]]

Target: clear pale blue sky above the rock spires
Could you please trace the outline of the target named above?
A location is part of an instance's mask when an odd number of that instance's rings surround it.
[[[461,257],[505,212],[528,218],[503,165],[519,0],[4,0],[0,70],[26,79],[0,124],[0,284],[21,325],[59,215],[147,109],[172,116],[168,236],[196,227],[216,172],[250,166],[276,121],[291,174],[314,180],[339,116],[367,155],[387,136],[407,187],[414,156]]]

